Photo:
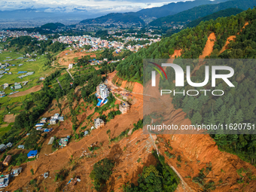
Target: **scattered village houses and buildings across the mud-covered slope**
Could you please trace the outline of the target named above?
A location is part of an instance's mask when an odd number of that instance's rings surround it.
[[[18,85],[15,85],[18,86]],[[108,96],[110,96],[110,93],[115,93],[114,88],[108,87],[104,83],[100,83],[96,87],[96,93],[95,96],[98,99],[98,103],[96,104],[96,108],[100,108],[103,105],[108,103]],[[126,96],[128,96],[129,93],[126,93]],[[125,94],[123,94],[124,96]],[[115,96],[116,97],[116,96]],[[118,99],[118,98],[117,98]],[[123,102],[119,105],[119,111],[120,114],[126,114],[130,110],[130,104],[123,100]],[[41,117],[41,120],[38,121],[38,123],[35,124],[35,130],[47,134],[53,131],[53,128],[51,126],[57,125],[60,122],[64,121],[64,116],[60,115],[58,113],[54,114],[51,117]],[[100,117],[96,117],[93,120],[93,124],[90,127],[89,130],[84,131],[84,136],[89,136],[90,133],[93,130],[97,130],[105,126],[104,120],[102,120]],[[30,133],[27,133],[26,136],[29,136]],[[71,139],[71,136],[56,138],[56,136],[51,136],[49,138],[49,141],[47,142],[47,145],[53,145],[55,141],[57,141],[58,148],[56,150],[61,150],[61,148],[65,148],[67,145],[69,145],[69,140]],[[91,157],[93,155],[93,149],[96,148],[98,142],[93,142],[90,145],[90,148],[88,150],[82,151],[81,157]],[[0,152],[4,153],[6,150],[11,150],[11,148],[14,148],[14,145],[9,142],[8,144],[1,144],[0,145]],[[17,145],[17,149],[24,150],[24,145]],[[53,151],[54,153],[54,151]],[[38,150],[31,150],[28,152],[27,159],[30,160],[36,160],[38,158],[39,151]],[[44,155],[44,154],[41,154]],[[11,165],[12,155],[7,153],[7,156],[5,157],[5,160],[3,160],[2,163],[0,163],[0,173],[5,172],[5,175],[0,175],[0,190],[2,188],[5,188],[8,186],[8,184],[11,182],[11,179],[14,177],[17,177],[22,172],[22,167],[17,167],[15,169],[11,169],[11,172],[7,172],[8,167]],[[7,174],[8,173],[8,174]],[[49,176],[49,172],[44,172],[44,179]],[[75,185],[77,181],[81,181],[80,178],[71,179],[68,184]]]

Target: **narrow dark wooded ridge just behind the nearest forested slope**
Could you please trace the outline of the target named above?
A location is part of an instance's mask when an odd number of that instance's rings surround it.
[[[231,15],[236,15],[241,13],[243,10],[239,8],[228,8],[225,10],[221,10],[218,12],[215,12],[214,14],[209,14],[206,17],[201,17],[197,20],[193,20],[190,23],[187,24],[184,28],[187,27],[194,27],[200,24],[201,21],[206,21],[206,20],[216,20],[218,17],[230,17]]]

